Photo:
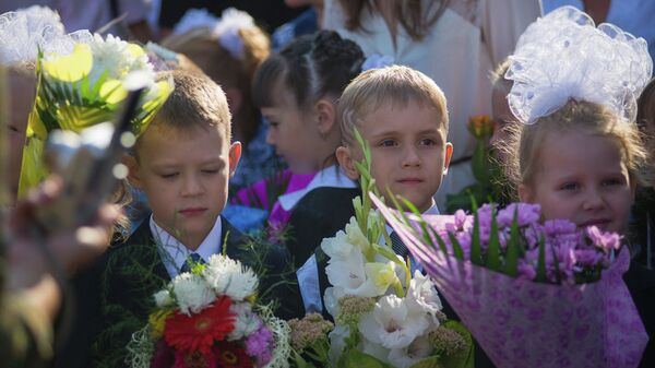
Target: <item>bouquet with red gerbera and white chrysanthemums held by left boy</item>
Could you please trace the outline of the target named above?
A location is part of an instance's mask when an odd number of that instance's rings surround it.
[[[258,277],[212,256],[154,295],[157,309],[128,345],[138,367],[288,367],[286,322],[254,302]]]

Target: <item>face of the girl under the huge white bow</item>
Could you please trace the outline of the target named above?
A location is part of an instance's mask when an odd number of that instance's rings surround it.
[[[609,138],[584,131],[548,134],[535,165],[534,185],[521,186],[519,194],[539,203],[546,219],[626,232],[634,185],[621,149]]]

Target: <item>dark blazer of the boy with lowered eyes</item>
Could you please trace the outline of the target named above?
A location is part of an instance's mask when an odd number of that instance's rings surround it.
[[[242,248],[248,238],[225,218],[221,219],[221,239],[229,232],[227,256],[253,266],[252,250]],[[132,333],[147,323],[148,314],[155,309],[153,294],[170,281],[156,247],[146,221],[126,242],[111,248],[104,258],[99,284],[103,327],[93,346],[95,366],[126,366],[126,346]],[[288,253],[277,247],[271,248],[263,262],[267,271],[260,278],[260,290],[270,289],[270,293],[260,295],[260,300],[284,300],[276,311],[279,318],[302,316],[297,284],[281,282],[288,276],[285,275],[285,269],[290,263]]]

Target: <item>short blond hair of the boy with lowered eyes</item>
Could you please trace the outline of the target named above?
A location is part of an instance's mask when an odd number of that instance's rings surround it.
[[[203,73],[186,70],[160,72],[159,79],[170,78],[175,90],[166,99],[150,127],[166,127],[181,131],[198,128],[217,129],[225,143],[231,140],[231,117],[225,93]],[[139,142],[138,142],[139,143]]]

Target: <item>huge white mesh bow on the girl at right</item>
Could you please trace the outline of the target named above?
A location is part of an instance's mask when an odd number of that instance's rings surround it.
[[[548,116],[569,98],[603,104],[628,121],[653,70],[646,41],[612,24],[597,28],[573,7],[559,8],[531,24],[510,57],[508,96],[524,123]]]

